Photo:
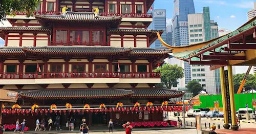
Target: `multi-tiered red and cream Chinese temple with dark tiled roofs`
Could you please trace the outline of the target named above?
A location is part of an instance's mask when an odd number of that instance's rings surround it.
[[[168,49],[151,49],[162,30],[151,30],[154,0],[41,0],[33,17],[18,12],[1,27],[0,88],[16,91],[17,102],[2,105],[2,124],[60,116],[79,126],[157,122],[182,93],[162,87]],[[188,109],[188,106],[185,107]],[[151,124],[152,125],[152,124]]]

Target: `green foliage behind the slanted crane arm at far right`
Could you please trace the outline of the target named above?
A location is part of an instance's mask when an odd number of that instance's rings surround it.
[[[236,74],[233,76],[233,84],[234,84],[234,93],[238,92],[239,86],[241,85],[241,82],[245,76],[245,73],[243,74]],[[256,89],[256,73],[254,75],[249,74],[245,84],[244,84],[245,90],[250,90],[251,88]],[[243,91],[242,91],[243,92]]]

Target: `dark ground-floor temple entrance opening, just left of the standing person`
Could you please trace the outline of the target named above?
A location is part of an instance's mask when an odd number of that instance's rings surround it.
[[[92,114],[92,125],[105,126],[106,124],[107,124],[107,119],[106,119],[105,113]]]

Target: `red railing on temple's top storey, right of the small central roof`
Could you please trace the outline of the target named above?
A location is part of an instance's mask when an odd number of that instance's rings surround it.
[[[152,18],[152,13],[141,13],[141,14],[132,14],[132,13],[99,13],[100,16],[122,16],[122,17],[135,17],[135,18]]]

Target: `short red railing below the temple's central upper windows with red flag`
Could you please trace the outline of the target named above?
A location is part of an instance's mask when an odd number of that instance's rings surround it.
[[[50,46],[109,46],[108,42],[51,41]]]

